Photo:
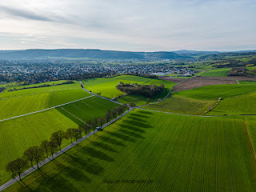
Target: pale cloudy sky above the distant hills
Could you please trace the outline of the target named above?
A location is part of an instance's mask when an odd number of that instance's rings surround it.
[[[0,50],[256,50],[255,0],[1,0]]]

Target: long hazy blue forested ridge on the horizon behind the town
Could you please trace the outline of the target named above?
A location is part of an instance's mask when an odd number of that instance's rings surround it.
[[[186,59],[190,58],[173,52],[130,52],[116,50],[9,50],[0,51],[0,59],[19,58],[114,58],[114,59]]]

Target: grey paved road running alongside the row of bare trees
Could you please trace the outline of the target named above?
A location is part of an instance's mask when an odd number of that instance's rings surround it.
[[[104,129],[104,128],[106,128],[106,126],[110,126],[112,123],[118,121],[118,119],[122,118],[123,116],[125,116],[126,114],[128,114],[132,110],[134,110],[134,108],[130,108],[129,110],[126,110],[123,114],[120,114],[117,118],[114,118],[110,122],[107,122],[106,124],[104,124],[102,126],[102,129]],[[86,134],[82,138],[79,138],[78,141],[71,143],[69,146],[64,147],[62,150],[58,150],[58,152],[55,153],[54,155],[51,155],[50,157],[46,158],[42,162],[39,162],[38,167],[44,166],[46,163],[51,162],[54,158],[57,158],[61,154],[65,154],[65,152],[67,150],[70,150],[72,147],[76,146],[78,143],[83,142],[84,140],[86,140],[86,138],[89,138],[91,135],[94,135],[94,134],[98,133],[98,131],[100,131],[100,130],[93,130],[89,134]],[[27,175],[31,174],[32,172],[34,172],[34,170],[38,170],[37,166],[33,166],[29,170],[24,171],[21,174],[21,178],[24,178]],[[18,176],[11,179],[9,182],[6,182],[2,186],[0,186],[0,191],[5,190],[7,187],[11,186],[12,184],[14,184],[15,182],[18,182],[18,181],[20,181]]]

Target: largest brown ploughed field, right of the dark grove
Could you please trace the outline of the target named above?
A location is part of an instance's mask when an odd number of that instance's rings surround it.
[[[174,86],[173,91],[180,90],[191,90],[200,86],[213,86],[213,85],[222,85],[222,84],[237,84],[235,80],[214,80],[214,79],[203,79],[200,78],[189,78],[185,82],[181,82],[177,86]]]

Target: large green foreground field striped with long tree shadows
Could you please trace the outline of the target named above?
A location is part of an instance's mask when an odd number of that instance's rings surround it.
[[[255,179],[244,118],[134,110],[5,191],[254,191]]]

